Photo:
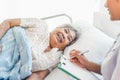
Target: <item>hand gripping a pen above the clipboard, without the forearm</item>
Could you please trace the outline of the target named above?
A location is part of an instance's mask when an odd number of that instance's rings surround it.
[[[84,55],[81,54],[79,50],[72,50],[70,52],[70,57],[73,57],[70,59],[72,63],[87,69],[89,61],[85,58]]]

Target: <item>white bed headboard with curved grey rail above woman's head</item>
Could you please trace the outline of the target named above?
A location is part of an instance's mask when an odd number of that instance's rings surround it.
[[[48,16],[40,19],[46,21],[46,23],[49,26],[48,27],[49,31],[52,31],[54,28],[58,27],[61,24],[72,24],[73,22],[72,17],[64,13],[52,15],[52,16]]]

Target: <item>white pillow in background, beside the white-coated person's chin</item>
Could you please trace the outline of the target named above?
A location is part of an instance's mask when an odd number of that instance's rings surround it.
[[[112,38],[120,33],[120,21],[111,21],[107,13],[95,12],[94,25]]]

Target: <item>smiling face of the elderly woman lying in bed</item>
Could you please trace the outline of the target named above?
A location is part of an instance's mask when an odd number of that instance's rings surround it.
[[[69,28],[56,28],[50,33],[50,45],[52,48],[63,50],[75,37],[75,32]]]

